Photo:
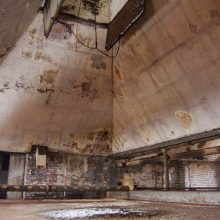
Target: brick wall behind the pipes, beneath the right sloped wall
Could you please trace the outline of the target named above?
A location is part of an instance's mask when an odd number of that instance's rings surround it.
[[[125,175],[133,178],[137,187],[162,188],[163,163],[117,168],[117,182]],[[170,188],[220,187],[220,161],[176,160],[169,163]]]

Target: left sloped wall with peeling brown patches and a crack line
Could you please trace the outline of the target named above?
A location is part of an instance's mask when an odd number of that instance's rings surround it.
[[[72,24],[94,47],[93,26]],[[98,46],[106,30],[98,28]],[[39,14],[0,68],[0,150],[32,144],[53,151],[109,154],[112,136],[111,59],[82,46],[61,24],[43,36]]]

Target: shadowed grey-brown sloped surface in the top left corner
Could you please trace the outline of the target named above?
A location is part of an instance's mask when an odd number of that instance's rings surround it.
[[[41,0],[0,0],[0,63],[34,19]]]

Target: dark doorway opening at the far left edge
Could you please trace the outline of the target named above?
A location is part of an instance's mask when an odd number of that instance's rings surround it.
[[[8,183],[8,169],[10,162],[10,154],[0,152],[0,184]],[[0,199],[6,199],[7,193],[0,192]]]

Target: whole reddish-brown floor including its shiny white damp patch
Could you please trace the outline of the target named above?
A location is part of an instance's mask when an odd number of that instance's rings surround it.
[[[220,207],[128,200],[0,201],[0,220],[219,220]]]

